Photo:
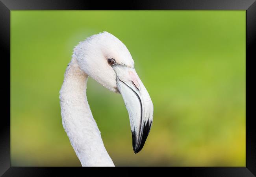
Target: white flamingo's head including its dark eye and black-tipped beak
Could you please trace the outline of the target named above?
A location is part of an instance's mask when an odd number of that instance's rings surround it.
[[[141,151],[151,128],[153,103],[126,46],[104,31],[80,42],[73,57],[83,72],[122,95],[129,114],[134,153]]]

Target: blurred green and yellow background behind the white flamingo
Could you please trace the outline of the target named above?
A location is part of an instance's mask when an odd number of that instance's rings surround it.
[[[11,166],[81,166],[59,90],[74,46],[108,31],[154,103],[134,154],[121,95],[89,78],[88,101],[116,166],[245,166],[245,11],[11,11]]]

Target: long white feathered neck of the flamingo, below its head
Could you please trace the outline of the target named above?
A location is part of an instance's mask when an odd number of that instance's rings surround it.
[[[87,101],[87,80],[73,57],[59,92],[62,124],[83,167],[114,166]]]

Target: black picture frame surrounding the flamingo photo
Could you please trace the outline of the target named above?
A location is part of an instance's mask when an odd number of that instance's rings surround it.
[[[255,0],[138,0],[138,1],[87,1],[87,0],[0,0],[0,50],[2,66],[10,66],[10,11],[11,10],[87,10],[87,9],[165,9],[165,10],[246,10],[246,167],[170,167],[170,168],[25,168],[10,166],[10,120],[11,110],[2,100],[2,116],[0,129],[0,175],[3,176],[68,176],[76,173],[94,175],[117,172],[121,176],[134,175],[138,171],[144,175],[153,173],[188,175],[197,177],[251,177],[256,175],[256,135],[253,124],[254,86],[252,61],[256,59],[254,52],[256,43],[256,2]],[[6,63],[5,63],[6,62]],[[8,99],[7,85],[11,88],[11,77],[7,74],[10,67],[2,67],[2,97]],[[10,70],[9,70],[10,74]],[[6,93],[6,94],[3,94]],[[250,95],[250,96],[247,96]],[[9,99],[11,98],[11,95]],[[252,104],[250,104],[252,103]],[[6,106],[6,109],[5,107]],[[10,115],[9,118],[7,115]],[[120,171],[122,170],[122,171]]]

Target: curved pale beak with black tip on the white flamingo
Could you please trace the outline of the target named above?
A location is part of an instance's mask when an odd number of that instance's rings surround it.
[[[130,118],[134,153],[143,148],[153,121],[153,103],[135,69],[114,66],[117,89],[124,100]]]

